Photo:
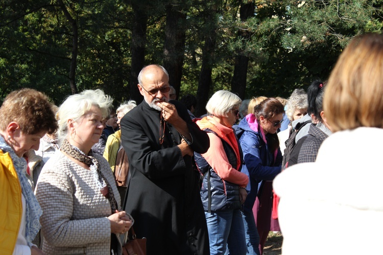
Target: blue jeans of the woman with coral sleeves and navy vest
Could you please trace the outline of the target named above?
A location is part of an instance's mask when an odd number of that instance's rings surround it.
[[[205,212],[210,255],[246,254],[245,228],[241,211]],[[226,250],[227,249],[227,250]]]

